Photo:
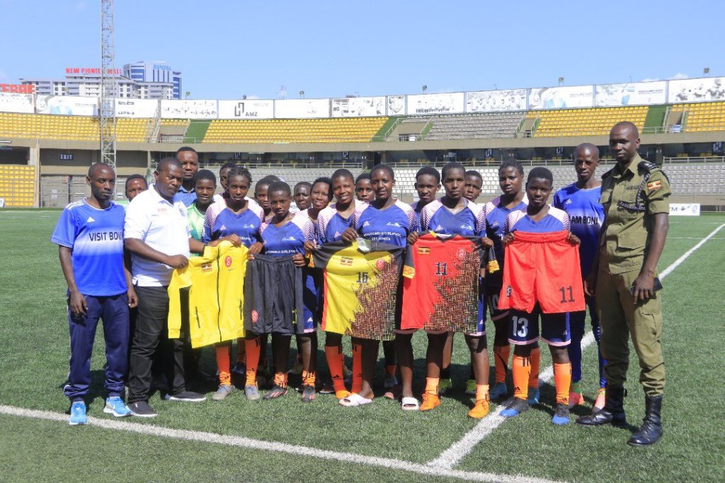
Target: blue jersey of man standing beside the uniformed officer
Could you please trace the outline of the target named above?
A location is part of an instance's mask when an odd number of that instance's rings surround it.
[[[579,261],[581,276],[587,278],[592,269],[599,245],[599,232],[604,222],[604,207],[599,198],[602,187],[582,190],[571,184],[561,188],[554,195],[554,206],[569,215],[571,232],[579,237]]]

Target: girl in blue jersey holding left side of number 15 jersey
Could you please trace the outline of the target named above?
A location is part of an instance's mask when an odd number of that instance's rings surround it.
[[[350,226],[352,215],[360,213],[368,207],[368,203],[355,200],[355,177],[348,169],[337,169],[331,177],[332,193],[335,203],[320,211],[318,215],[318,244],[334,242],[342,238],[342,234]],[[314,246],[308,247],[313,251]],[[325,332],[325,356],[330,369],[332,387],[323,386],[320,392],[335,392],[338,399],[347,398],[350,394],[344,382],[344,355],[342,353],[342,335]],[[353,355],[355,358],[356,355]],[[357,387],[356,387],[357,388]]]

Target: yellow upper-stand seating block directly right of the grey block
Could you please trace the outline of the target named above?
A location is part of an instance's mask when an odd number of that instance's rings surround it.
[[[620,121],[634,122],[642,130],[647,109],[648,106],[624,106],[529,111],[526,119],[536,119],[531,129],[534,138],[607,135],[612,126]]]

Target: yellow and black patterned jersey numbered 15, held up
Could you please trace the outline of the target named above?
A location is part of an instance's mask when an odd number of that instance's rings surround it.
[[[326,243],[314,251],[310,266],[324,271],[323,330],[392,340],[404,251],[361,239]]]

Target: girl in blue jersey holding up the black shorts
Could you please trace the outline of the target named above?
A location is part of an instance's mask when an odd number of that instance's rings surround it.
[[[305,266],[305,243],[315,238],[315,228],[312,221],[307,217],[296,217],[290,213],[292,193],[286,182],[277,181],[270,184],[268,188],[270,210],[273,217],[268,222],[262,223],[260,227],[261,242],[252,245],[252,253],[262,253],[269,256],[288,257],[291,256],[294,265],[302,268]],[[284,321],[289,324],[289,334],[294,332],[292,320]],[[315,327],[310,327],[313,332]],[[305,327],[305,333],[309,333]],[[259,398],[257,385],[254,383],[254,375],[257,367],[254,362],[259,361],[259,335],[253,332],[247,333],[247,385],[244,392],[248,399]],[[268,392],[265,399],[275,399],[287,393],[287,358],[289,356],[289,344],[291,335],[281,332],[272,333],[272,350],[275,361],[274,386]],[[250,380],[251,379],[251,380]],[[305,390],[307,390],[305,388]],[[315,390],[312,382],[312,391]]]

